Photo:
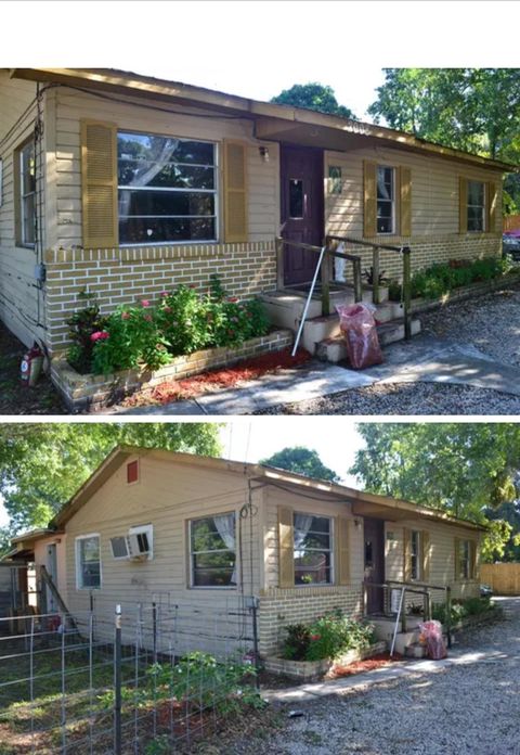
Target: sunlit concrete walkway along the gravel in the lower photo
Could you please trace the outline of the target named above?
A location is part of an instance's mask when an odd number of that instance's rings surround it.
[[[505,619],[518,627],[520,625],[520,598],[498,598],[495,600],[503,607]],[[484,629],[481,631],[484,631]],[[434,674],[454,666],[468,666],[481,663],[493,664],[497,661],[506,660],[519,661],[518,642],[484,642],[478,649],[457,648],[454,644],[448,651],[448,657],[442,661],[399,661],[391,666],[342,679],[328,679],[285,690],[262,690],[262,698],[269,702],[303,703],[348,690],[368,689],[375,684],[408,677],[412,674]]]

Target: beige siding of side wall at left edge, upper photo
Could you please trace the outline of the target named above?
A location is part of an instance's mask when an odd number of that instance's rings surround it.
[[[43,331],[36,324],[38,307],[34,287],[35,252],[32,248],[17,246],[15,241],[17,192],[14,162],[17,156],[16,150],[32,133],[35,106],[23,114],[35,95],[36,84],[10,79],[6,72],[0,71],[0,157],[3,161],[3,203],[0,207],[0,319],[26,344],[31,344],[35,336],[41,337]],[[18,119],[20,123],[16,123]]]

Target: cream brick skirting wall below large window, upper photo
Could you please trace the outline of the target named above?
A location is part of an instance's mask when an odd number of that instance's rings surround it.
[[[207,291],[217,273],[230,294],[250,298],[276,287],[274,240],[247,244],[122,247],[115,249],[50,249],[46,253],[46,315],[52,355],[68,344],[65,320],[84,304],[87,290],[103,313],[120,304],[155,299],[181,283]]]

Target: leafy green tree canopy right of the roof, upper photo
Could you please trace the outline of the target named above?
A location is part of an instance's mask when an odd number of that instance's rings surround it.
[[[385,68],[385,84],[368,107],[376,123],[484,157],[520,159],[519,68]],[[520,199],[506,179],[506,208]]]

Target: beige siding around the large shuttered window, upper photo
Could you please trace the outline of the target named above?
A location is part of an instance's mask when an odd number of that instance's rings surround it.
[[[125,99],[120,95],[120,99]],[[50,159],[55,161],[55,192],[57,222],[50,245],[70,246],[81,243],[81,175],[80,175],[80,119],[89,118],[115,123],[121,130],[176,136],[185,139],[213,141],[219,148],[220,171],[220,238],[223,238],[222,143],[224,139],[247,144],[248,175],[248,228],[249,241],[266,241],[273,238],[280,225],[278,209],[278,150],[269,143],[270,161],[264,163],[252,137],[252,126],[247,120],[214,117],[205,118],[200,111],[173,105],[174,113],[161,113],[139,106],[127,98],[126,102],[109,102],[99,98],[60,89],[55,95],[56,144]],[[164,102],[156,104],[168,107]],[[193,115],[188,115],[192,113]],[[48,219],[52,223],[52,217]]]

